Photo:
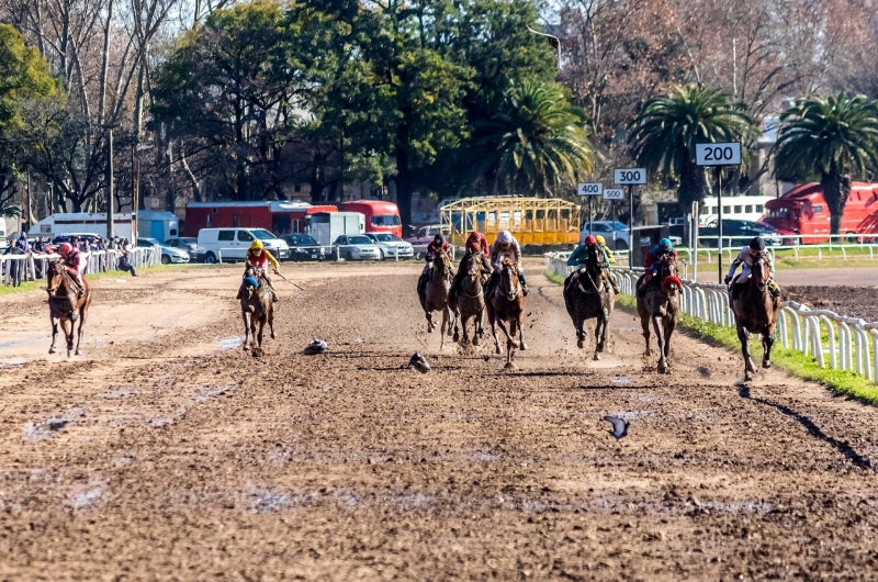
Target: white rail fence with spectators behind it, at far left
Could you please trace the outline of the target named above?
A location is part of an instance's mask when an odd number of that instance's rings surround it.
[[[82,253],[82,256],[86,257],[86,275],[88,275],[117,269],[122,253],[119,250],[93,250]],[[60,259],[58,255],[41,253],[0,255],[0,284],[8,286],[42,279],[45,277],[48,261],[58,259]],[[161,253],[157,248],[137,247],[131,250],[131,265],[135,269],[160,264]]]

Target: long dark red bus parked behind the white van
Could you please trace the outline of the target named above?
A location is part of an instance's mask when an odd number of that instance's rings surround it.
[[[303,233],[316,212],[338,212],[338,206],[313,206],[307,202],[190,202],[185,205],[185,236],[202,228],[266,228],[278,236]]]

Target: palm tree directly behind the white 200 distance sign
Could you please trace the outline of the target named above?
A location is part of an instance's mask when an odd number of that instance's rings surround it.
[[[684,212],[705,197],[705,169],[696,166],[695,145],[742,142],[756,135],[746,105],[718,89],[673,86],[649,100],[631,124],[632,157],[648,174],[679,181],[677,201]]]

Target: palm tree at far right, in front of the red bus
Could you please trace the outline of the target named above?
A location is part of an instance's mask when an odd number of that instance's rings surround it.
[[[841,233],[851,176],[878,169],[878,102],[865,96],[810,97],[780,115],[775,174],[818,178],[831,212],[832,234]]]

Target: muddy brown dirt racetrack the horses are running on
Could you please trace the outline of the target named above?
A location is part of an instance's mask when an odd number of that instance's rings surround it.
[[[517,370],[439,354],[414,265],[286,268],[258,360],[237,269],[97,281],[69,361],[0,300],[0,580],[878,578],[874,408],[683,336],[658,376],[621,312],[593,363],[540,268]]]

